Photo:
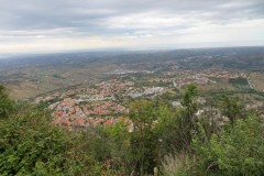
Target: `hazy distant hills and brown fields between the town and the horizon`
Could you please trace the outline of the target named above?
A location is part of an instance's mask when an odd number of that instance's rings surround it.
[[[13,99],[89,84],[114,69],[166,70],[223,68],[264,72],[264,47],[196,48],[144,52],[79,52],[12,56],[0,59],[0,84]]]

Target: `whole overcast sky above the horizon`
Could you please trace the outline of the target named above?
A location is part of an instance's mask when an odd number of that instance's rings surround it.
[[[264,46],[264,0],[0,0],[0,53]]]

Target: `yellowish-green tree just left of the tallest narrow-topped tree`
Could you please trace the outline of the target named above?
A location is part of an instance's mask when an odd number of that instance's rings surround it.
[[[131,165],[134,172],[144,175],[152,174],[157,165],[158,136],[155,130],[157,120],[157,103],[151,100],[139,100],[131,103],[130,118],[134,131],[131,133]]]

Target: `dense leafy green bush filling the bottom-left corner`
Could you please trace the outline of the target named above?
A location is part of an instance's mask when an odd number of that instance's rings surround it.
[[[99,173],[78,151],[70,134],[53,127],[43,112],[26,112],[0,122],[0,174],[80,175]],[[90,167],[92,165],[92,167]]]

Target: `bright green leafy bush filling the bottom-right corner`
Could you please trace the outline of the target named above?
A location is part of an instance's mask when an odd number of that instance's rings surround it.
[[[254,118],[237,120],[210,141],[194,140],[197,175],[264,175],[264,131]]]

